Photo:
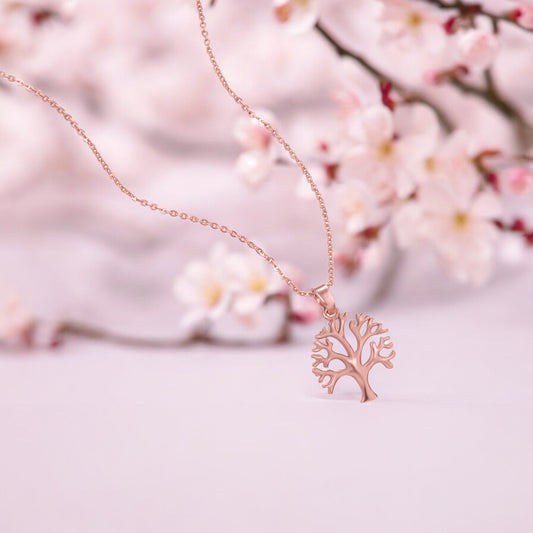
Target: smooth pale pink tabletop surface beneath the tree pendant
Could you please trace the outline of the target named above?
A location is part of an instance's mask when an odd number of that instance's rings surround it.
[[[367,405],[310,342],[2,355],[0,531],[529,533],[531,279],[383,309]]]

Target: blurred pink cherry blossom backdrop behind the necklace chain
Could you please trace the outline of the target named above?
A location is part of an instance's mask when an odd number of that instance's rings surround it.
[[[230,84],[326,196],[344,305],[471,297],[531,266],[532,3],[206,10]],[[4,1],[0,64],[64,105],[135,194],[235,227],[304,288],[325,281],[316,201],[219,86],[194,2]],[[238,242],[127,201],[5,82],[0,140],[4,345],[286,342],[319,317]]]

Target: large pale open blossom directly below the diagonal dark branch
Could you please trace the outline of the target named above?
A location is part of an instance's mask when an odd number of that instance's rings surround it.
[[[426,106],[410,108],[410,123],[397,131],[394,115],[385,106],[373,106],[353,121],[351,136],[356,144],[341,163],[341,178],[371,180],[382,200],[412,193],[411,169],[433,150],[438,134],[436,118]]]

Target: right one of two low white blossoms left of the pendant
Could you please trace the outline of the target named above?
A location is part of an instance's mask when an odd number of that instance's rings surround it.
[[[234,253],[226,260],[226,269],[234,294],[232,310],[249,319],[269,296],[280,291],[281,278],[261,257],[252,253]]]

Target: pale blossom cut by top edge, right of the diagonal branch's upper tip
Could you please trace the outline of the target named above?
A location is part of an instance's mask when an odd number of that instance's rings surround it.
[[[441,20],[406,0],[384,0],[381,13],[383,40],[406,48],[420,48],[439,52],[446,43]]]

